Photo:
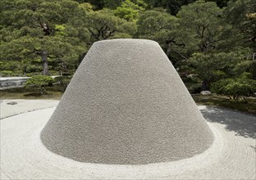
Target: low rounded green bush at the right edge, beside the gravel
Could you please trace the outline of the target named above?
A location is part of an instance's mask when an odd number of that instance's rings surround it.
[[[256,80],[253,79],[222,79],[212,83],[212,92],[229,96],[235,101],[245,101],[246,97],[254,96]]]

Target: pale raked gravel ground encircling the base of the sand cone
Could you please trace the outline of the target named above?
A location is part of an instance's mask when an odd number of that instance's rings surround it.
[[[143,165],[89,164],[48,151],[39,134],[55,108],[1,120],[2,179],[255,179],[255,138],[228,129],[223,122],[254,126],[256,118],[230,110],[199,106],[215,140],[200,155]],[[216,116],[220,119],[217,122]],[[245,124],[243,124],[245,119]],[[240,120],[240,121],[238,121]],[[248,134],[248,133],[247,133]]]

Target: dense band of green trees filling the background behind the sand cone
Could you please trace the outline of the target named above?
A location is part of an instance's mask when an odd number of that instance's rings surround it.
[[[187,84],[255,91],[254,0],[2,0],[0,10],[1,76],[73,74],[95,41],[147,38]]]

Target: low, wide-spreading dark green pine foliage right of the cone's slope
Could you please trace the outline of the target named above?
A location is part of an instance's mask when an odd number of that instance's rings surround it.
[[[210,84],[220,79],[240,78],[249,71],[250,60],[246,59],[249,49],[234,52],[194,53],[189,59],[195,67],[196,74],[203,80],[203,90],[209,89]]]

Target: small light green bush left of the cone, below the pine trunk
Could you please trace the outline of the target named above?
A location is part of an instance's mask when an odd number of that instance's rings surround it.
[[[36,75],[25,82],[26,89],[32,89],[39,94],[45,94],[46,87],[53,84],[53,78],[47,75]]]

